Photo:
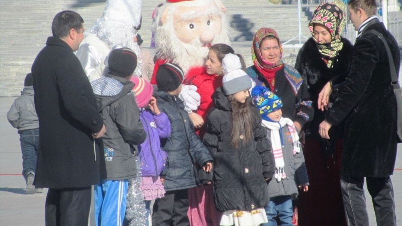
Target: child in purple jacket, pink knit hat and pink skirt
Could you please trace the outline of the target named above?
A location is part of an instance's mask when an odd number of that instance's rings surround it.
[[[140,107],[140,119],[147,133],[147,139],[138,146],[138,150],[142,168],[140,189],[144,192],[148,220],[151,200],[163,197],[165,193],[159,174],[164,168],[167,153],[160,148],[160,139],[170,137],[170,122],[156,105],[152,85],[140,77],[132,77],[130,80],[134,82],[132,92]]]

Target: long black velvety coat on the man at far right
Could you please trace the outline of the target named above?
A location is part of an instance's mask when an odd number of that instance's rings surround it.
[[[387,51],[368,30],[383,35],[399,71],[397,42],[374,19],[356,40],[346,82],[325,119],[338,125],[346,118],[341,175],[387,177],[393,173],[396,157],[396,101]]]

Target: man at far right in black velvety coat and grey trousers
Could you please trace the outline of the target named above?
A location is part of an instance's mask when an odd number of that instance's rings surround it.
[[[389,176],[396,158],[396,101],[383,35],[399,71],[396,40],[375,16],[375,0],[351,0],[350,19],[358,31],[352,63],[339,96],[320,124],[320,135],[329,139],[332,125],[345,121],[341,163],[341,187],[349,225],[368,225],[364,177],[371,195],[377,225],[396,225],[393,187]],[[319,94],[319,108],[328,107],[332,91],[328,83]]]

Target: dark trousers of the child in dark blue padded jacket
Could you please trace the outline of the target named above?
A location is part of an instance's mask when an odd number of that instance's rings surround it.
[[[187,189],[167,191],[165,196],[157,198],[152,213],[152,225],[188,226]]]

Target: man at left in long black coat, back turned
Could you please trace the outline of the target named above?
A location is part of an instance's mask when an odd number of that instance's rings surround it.
[[[99,182],[104,169],[96,139],[106,129],[73,53],[83,39],[83,22],[75,12],[58,13],[52,22],[53,37],[32,65],[40,128],[34,183],[49,188],[46,225],[87,225],[91,185]]]

